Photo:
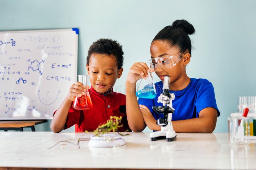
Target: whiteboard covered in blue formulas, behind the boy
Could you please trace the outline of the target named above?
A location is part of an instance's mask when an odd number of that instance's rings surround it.
[[[0,32],[0,120],[52,119],[77,76],[78,29]]]

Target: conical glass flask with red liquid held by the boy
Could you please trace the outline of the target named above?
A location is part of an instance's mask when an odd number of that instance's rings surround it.
[[[78,81],[83,83],[84,86],[87,86],[87,75],[78,75]],[[88,90],[84,92],[84,89],[82,90],[82,96],[76,97],[73,102],[73,108],[76,110],[89,110],[92,109],[92,100],[90,97],[90,94]]]

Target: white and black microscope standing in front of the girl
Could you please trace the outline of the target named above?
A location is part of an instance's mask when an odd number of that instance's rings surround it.
[[[167,142],[176,140],[176,133],[172,127],[172,113],[174,113],[174,108],[172,108],[172,100],[175,96],[173,93],[169,92],[170,77],[164,77],[163,93],[158,97],[157,102],[163,103],[163,106],[153,106],[152,109],[157,113],[164,114],[164,118],[157,120],[156,124],[161,126],[161,131],[155,131],[150,133],[151,141],[156,141],[158,139],[166,139]]]

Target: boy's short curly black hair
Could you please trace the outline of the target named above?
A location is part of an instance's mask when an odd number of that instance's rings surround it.
[[[122,46],[115,40],[112,39],[99,39],[95,41],[88,50],[88,56],[86,63],[89,65],[90,57],[92,53],[114,55],[117,60],[117,67],[120,69],[124,63],[124,52]]]

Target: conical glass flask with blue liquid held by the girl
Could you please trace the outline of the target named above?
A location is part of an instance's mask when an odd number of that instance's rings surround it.
[[[154,64],[149,64],[149,70],[154,70]],[[146,99],[154,99],[156,97],[156,87],[153,81],[152,72],[148,72],[148,77],[146,79],[141,78],[140,84],[136,90],[136,96]]]

